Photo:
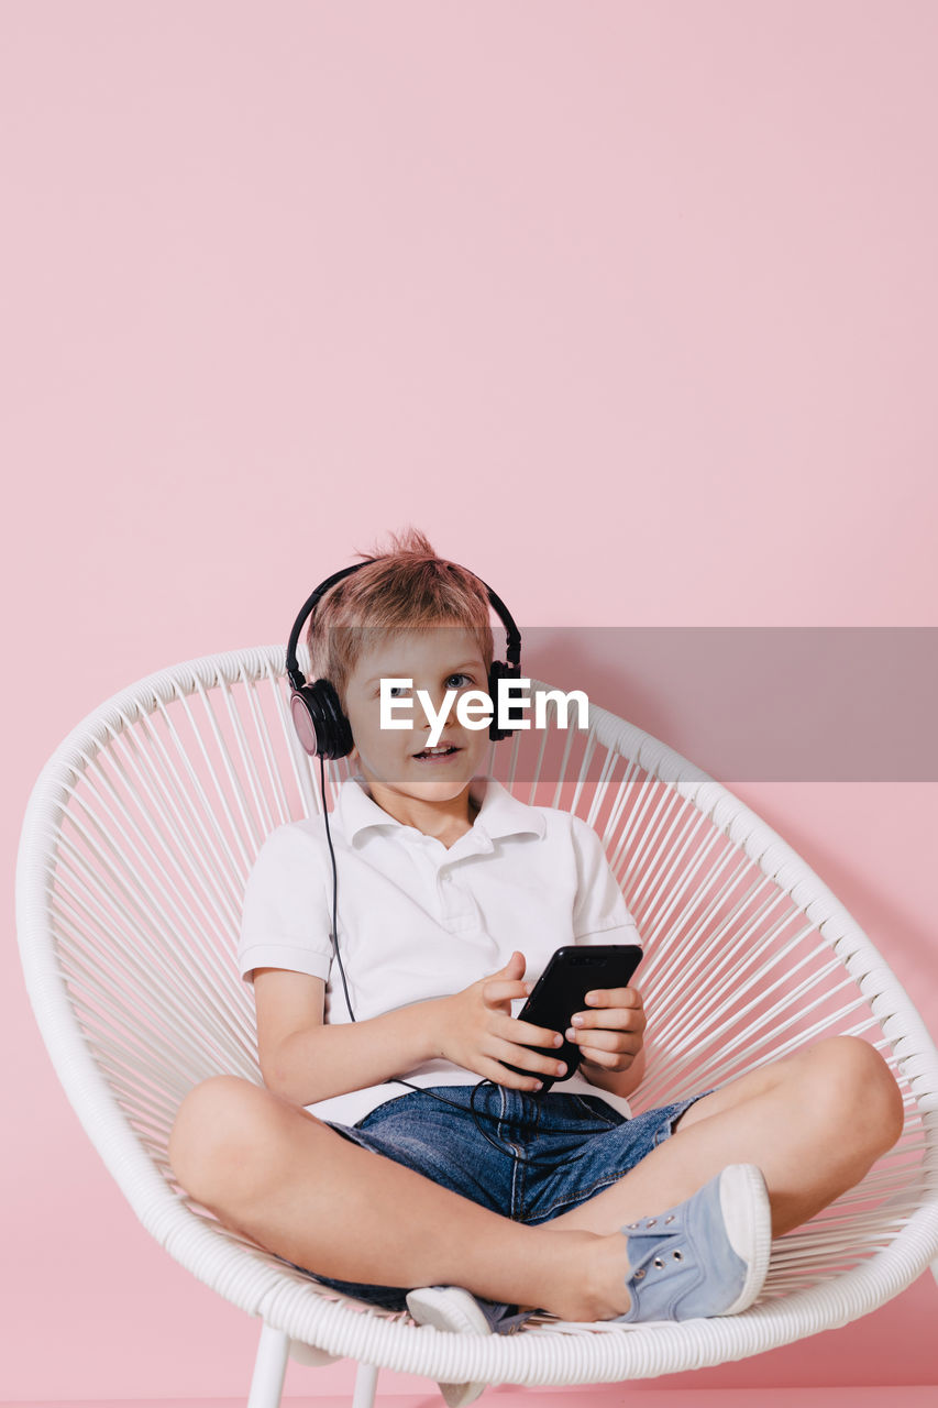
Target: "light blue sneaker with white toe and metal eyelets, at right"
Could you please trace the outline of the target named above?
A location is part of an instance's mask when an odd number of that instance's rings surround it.
[[[632,1304],[615,1319],[738,1315],[762,1290],[772,1212],[762,1170],[731,1163],[693,1197],[623,1228]]]

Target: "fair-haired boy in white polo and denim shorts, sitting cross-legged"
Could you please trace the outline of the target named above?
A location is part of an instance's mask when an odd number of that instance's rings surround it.
[[[327,1284],[389,1308],[406,1297],[445,1328],[504,1331],[535,1305],[625,1322],[744,1309],[770,1236],[899,1138],[889,1067],[834,1038],[631,1119],[645,1015],[628,987],[589,994],[566,1032],[580,1070],[538,1094],[562,1070],[532,1048],[562,1039],[511,1004],[561,943],[637,938],[601,843],[480,777],[489,735],[455,707],[435,749],[417,701],[406,728],[380,727],[382,679],[413,680],[437,714],[448,691],[486,689],[483,584],[411,531],[325,593],[310,649],[358,777],[328,836],[323,818],[280,826],[251,873],[241,966],[265,1087],[220,1076],[186,1097],[180,1184]]]

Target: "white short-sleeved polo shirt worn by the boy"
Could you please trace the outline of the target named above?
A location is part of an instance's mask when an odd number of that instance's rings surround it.
[[[537,981],[562,943],[641,943],[635,921],[587,822],[552,807],[528,807],[494,777],[476,777],[476,819],[449,849],[396,821],[362,779],[342,783],[330,812],[338,869],[338,945],[358,1021],[425,998],[446,997],[496,973],[514,949]],[[348,1022],[330,939],[332,866],[321,817],[286,822],[263,842],[248,876],[238,962],[325,980],[325,1021]],[[517,1017],[523,1001],[513,1004]],[[397,1073],[414,1086],[475,1086],[482,1077],[434,1059]],[[577,1071],[555,1084],[628,1102]],[[352,1125],[399,1084],[369,1086],[307,1108]]]

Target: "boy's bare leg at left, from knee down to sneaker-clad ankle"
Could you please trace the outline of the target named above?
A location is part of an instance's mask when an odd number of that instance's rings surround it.
[[[463,1286],[565,1319],[628,1309],[618,1232],[513,1222],[235,1076],[190,1091],[169,1155],[179,1183],[221,1222],[323,1276]]]

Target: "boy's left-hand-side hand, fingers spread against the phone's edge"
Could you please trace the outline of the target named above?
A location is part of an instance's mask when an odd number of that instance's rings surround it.
[[[541,1056],[531,1048],[562,1046],[561,1033],[511,1017],[513,1000],[527,997],[534,986],[521,981],[525,967],[524,953],[515,952],[490,977],[480,979],[452,997],[435,998],[435,1053],[510,1090],[539,1090],[538,1073],[556,1077],[558,1066],[563,1063]],[[518,1076],[507,1070],[503,1062],[531,1074]],[[566,1074],[566,1066],[562,1074]]]

